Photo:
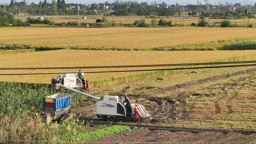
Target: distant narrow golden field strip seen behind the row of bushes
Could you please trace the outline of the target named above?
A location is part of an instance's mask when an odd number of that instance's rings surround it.
[[[82,17],[81,17],[82,18]],[[81,23],[95,23],[97,18],[102,18],[102,17],[88,17],[88,19],[80,19]],[[118,23],[123,23],[123,24],[132,24],[135,20],[137,19],[142,19],[145,17],[107,17],[110,21],[115,21]],[[161,18],[165,18],[167,20],[172,20],[173,24],[179,25],[180,24],[180,18],[177,17],[161,17]],[[76,18],[50,18],[51,20],[55,21],[56,23],[67,23],[68,21],[76,21]],[[159,20],[160,18],[156,18],[157,20]],[[206,18],[207,21],[209,21],[208,18]],[[146,23],[150,23],[151,18],[145,18]],[[188,18],[188,17],[183,17],[182,19],[182,23],[184,25],[191,25],[192,23],[197,23],[199,20],[199,18]],[[221,22],[223,19],[210,19],[210,23],[213,22]],[[247,26],[247,19],[230,19],[231,22],[233,23],[237,23],[238,26]],[[254,24],[254,26],[256,26],[256,18],[250,18],[249,19],[249,23]]]

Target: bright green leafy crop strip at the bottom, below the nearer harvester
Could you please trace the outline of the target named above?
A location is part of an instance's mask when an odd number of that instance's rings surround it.
[[[89,141],[94,138],[101,138],[108,135],[113,135],[117,133],[125,132],[126,130],[129,130],[129,126],[110,126],[103,129],[98,129],[94,132],[88,132],[88,133],[80,133],[75,136],[76,141]]]

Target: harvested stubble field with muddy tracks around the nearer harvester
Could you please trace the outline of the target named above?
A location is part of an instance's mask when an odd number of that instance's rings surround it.
[[[90,94],[128,94],[133,103],[144,104],[153,115],[145,121],[148,125],[256,130],[255,72],[256,67],[190,70],[161,76],[163,80],[98,88]],[[73,113],[96,120],[91,104],[84,101]]]

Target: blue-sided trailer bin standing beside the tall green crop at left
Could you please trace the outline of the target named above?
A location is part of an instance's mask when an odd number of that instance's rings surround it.
[[[43,98],[44,109],[47,113],[51,113],[54,118],[62,117],[64,114],[69,113],[71,107],[71,97],[61,94],[55,94]]]

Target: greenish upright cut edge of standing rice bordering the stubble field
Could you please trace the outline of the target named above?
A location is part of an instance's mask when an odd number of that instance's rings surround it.
[[[239,61],[239,60],[245,60],[248,57],[253,57],[253,56],[256,56],[256,54],[231,57],[231,58],[221,59],[221,60],[214,61],[214,62]],[[201,65],[194,65],[191,67],[200,67],[200,66]],[[166,74],[170,74],[170,73],[174,73],[174,72],[178,72],[178,71],[179,70],[147,72],[147,73],[142,73],[142,74],[130,75],[127,77],[112,78],[109,80],[91,81],[91,85],[93,85],[94,87],[110,86],[110,85],[121,84],[121,83],[126,83],[126,82],[131,82],[131,81],[137,81],[137,80],[146,79],[146,78],[152,78],[152,77],[156,77],[156,76],[160,76],[160,75],[166,75]]]

